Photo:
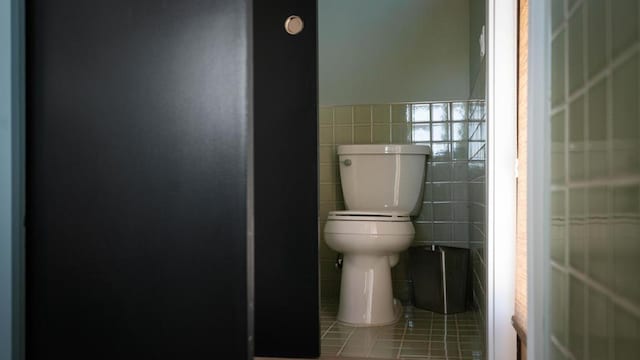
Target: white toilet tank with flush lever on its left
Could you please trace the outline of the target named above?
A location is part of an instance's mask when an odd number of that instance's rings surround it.
[[[430,153],[426,145],[338,146],[346,208],[416,215]]]

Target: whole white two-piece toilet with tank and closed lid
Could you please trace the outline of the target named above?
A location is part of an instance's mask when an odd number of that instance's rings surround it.
[[[338,321],[355,326],[397,321],[391,267],[415,234],[410,216],[422,203],[426,145],[338,146],[346,211],[329,213],[324,238],[342,253]]]

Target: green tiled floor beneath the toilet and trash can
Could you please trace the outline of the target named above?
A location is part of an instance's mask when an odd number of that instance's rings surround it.
[[[322,358],[483,359],[477,314],[442,315],[412,306],[397,323],[352,327],[336,321],[337,304],[322,304]]]

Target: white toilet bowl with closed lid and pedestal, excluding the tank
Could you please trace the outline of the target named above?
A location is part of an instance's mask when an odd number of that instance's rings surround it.
[[[325,241],[343,253],[338,321],[355,326],[387,325],[401,315],[393,298],[391,268],[415,234],[408,214],[334,211]]]

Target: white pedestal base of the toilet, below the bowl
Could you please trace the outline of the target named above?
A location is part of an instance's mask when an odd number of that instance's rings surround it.
[[[402,316],[393,298],[388,255],[345,254],[337,320],[351,326],[393,324]]]

